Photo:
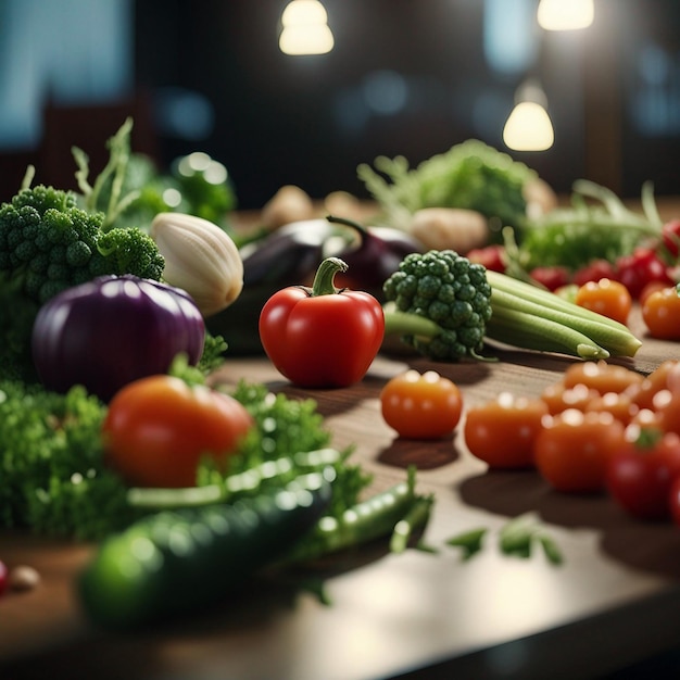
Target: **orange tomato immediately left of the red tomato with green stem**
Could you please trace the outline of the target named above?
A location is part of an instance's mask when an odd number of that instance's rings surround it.
[[[536,466],[557,491],[603,491],[607,461],[624,444],[624,425],[608,413],[569,408],[547,416],[533,443]]]

